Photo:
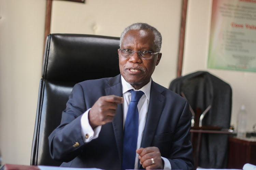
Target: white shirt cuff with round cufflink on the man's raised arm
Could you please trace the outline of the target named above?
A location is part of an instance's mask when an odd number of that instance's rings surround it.
[[[91,108],[89,108],[81,117],[81,135],[85,143],[90,142],[91,140],[97,138],[99,136],[101,126],[97,126],[94,129],[91,128],[88,113]]]

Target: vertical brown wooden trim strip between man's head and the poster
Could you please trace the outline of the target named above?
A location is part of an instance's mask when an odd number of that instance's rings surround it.
[[[183,0],[177,77],[181,76],[181,71],[182,71],[185,28],[186,28],[186,16],[187,16],[187,0]]]

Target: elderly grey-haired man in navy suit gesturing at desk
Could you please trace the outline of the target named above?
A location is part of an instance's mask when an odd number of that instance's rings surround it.
[[[193,169],[188,103],[151,79],[161,41],[154,27],[132,24],[120,37],[121,74],[74,86],[49,136],[51,156],[61,166]]]

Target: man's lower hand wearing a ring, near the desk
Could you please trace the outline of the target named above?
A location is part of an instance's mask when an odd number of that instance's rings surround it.
[[[161,153],[157,147],[137,149],[140,164],[145,169],[163,169]],[[153,158],[153,159],[152,159]]]

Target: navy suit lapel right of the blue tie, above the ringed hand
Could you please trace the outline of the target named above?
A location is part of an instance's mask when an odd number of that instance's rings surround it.
[[[156,84],[152,81],[150,91],[150,102],[148,105],[147,118],[144,133],[141,141],[141,147],[150,147],[155,136],[155,131],[162,113],[165,96],[161,95],[162,91],[156,89]],[[140,164],[138,168],[140,169]]]

